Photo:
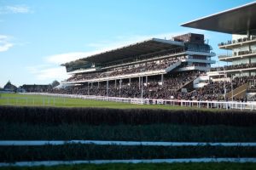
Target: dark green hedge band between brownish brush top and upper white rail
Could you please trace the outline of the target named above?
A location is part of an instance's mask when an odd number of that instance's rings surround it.
[[[256,126],[28,124],[0,121],[0,140],[130,140],[180,142],[256,142]]]

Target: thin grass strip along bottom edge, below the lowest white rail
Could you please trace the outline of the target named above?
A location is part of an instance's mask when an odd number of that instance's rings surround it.
[[[138,164],[80,164],[69,166],[53,166],[53,167],[0,167],[0,170],[255,170],[256,163],[138,163]]]

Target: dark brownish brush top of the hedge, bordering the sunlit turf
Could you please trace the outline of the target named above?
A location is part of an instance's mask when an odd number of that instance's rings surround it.
[[[0,107],[0,120],[4,122],[86,123],[91,125],[175,123],[189,125],[253,126],[256,113],[253,111],[167,111],[147,109],[107,108],[55,108],[55,107]]]

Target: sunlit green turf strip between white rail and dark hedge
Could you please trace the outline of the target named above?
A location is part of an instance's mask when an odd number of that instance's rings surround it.
[[[166,109],[187,110],[196,107],[180,107],[170,105],[134,105],[121,102],[111,102],[93,99],[71,99],[62,97],[49,97],[44,95],[28,94],[1,94],[0,105],[28,105],[28,106],[55,106],[55,107],[100,107],[113,109]],[[8,99],[9,98],[9,99]]]

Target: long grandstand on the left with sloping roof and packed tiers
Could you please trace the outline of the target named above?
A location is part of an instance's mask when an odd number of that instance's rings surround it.
[[[72,75],[62,82],[69,88],[54,93],[191,99],[194,83],[215,63],[213,56],[201,34],[152,38],[63,64]]]

